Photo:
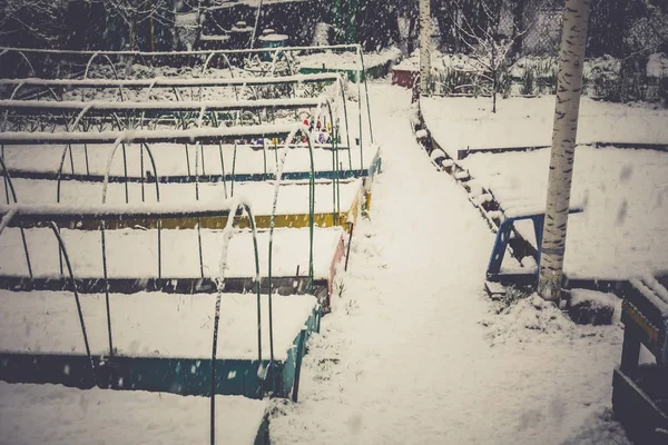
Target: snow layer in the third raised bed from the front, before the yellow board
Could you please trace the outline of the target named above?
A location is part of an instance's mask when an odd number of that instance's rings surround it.
[[[315,279],[328,279],[343,229],[318,228],[313,237]],[[257,234],[261,276],[268,274],[268,231]],[[61,230],[76,278],[102,277],[101,237],[98,230]],[[161,276],[199,278],[199,249],[196,229],[161,230]],[[50,229],[27,229],[26,238],[36,277],[60,277],[58,243]],[[202,230],[204,277],[219,276],[223,230]],[[308,274],[308,228],[274,230],[272,274],[294,277]],[[106,231],[107,265],[110,278],[158,277],[158,231],[119,229]],[[23,244],[18,228],[0,236],[0,275],[28,276]],[[228,246],[227,277],[255,277],[255,250],[249,230],[234,234]],[[67,271],[67,269],[66,269]]]

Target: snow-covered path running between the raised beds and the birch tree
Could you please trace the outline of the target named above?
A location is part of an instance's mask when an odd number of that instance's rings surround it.
[[[273,443],[625,443],[608,409],[619,326],[573,326],[531,297],[497,315],[482,290],[493,235],[418,148],[409,91],[371,96],[384,169],[371,220],[299,403],[275,402]]]

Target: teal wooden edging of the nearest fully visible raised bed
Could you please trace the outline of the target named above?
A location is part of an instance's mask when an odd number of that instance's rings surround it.
[[[305,322],[307,335],[320,325],[320,307]],[[286,397],[295,382],[298,335],[287,360],[275,362],[267,382],[258,377],[257,360],[216,360],[216,394],[259,398],[266,392]],[[100,357],[94,356],[97,377],[90,360],[80,354],[0,353],[0,380],[8,383],[60,384],[89,389],[138,389],[180,395],[210,395],[212,360],[202,358]],[[263,360],[263,367],[269,366]]]

